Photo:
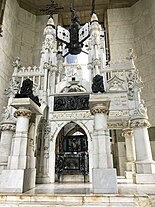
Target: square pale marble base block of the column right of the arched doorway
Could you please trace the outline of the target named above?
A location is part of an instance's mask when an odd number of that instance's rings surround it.
[[[116,169],[93,168],[93,193],[118,193]]]

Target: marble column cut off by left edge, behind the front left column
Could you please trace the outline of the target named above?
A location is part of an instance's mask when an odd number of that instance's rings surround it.
[[[0,141],[0,166],[6,167],[8,164],[8,156],[11,150],[12,137],[15,132],[15,121],[8,119],[1,123],[1,141]]]

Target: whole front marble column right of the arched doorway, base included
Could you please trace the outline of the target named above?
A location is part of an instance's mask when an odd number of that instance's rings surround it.
[[[93,193],[117,193],[116,170],[112,168],[107,116],[110,99],[104,94],[92,94],[89,100],[94,115],[93,133]]]

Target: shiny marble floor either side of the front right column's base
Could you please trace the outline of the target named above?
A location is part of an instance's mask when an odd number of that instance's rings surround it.
[[[131,180],[118,178],[118,192],[120,195],[155,195],[154,184],[133,184]],[[92,194],[90,183],[54,183],[38,184],[25,194]]]

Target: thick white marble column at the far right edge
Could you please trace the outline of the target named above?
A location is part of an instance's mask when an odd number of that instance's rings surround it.
[[[135,151],[136,151],[136,173],[135,183],[155,183],[155,161],[152,152],[147,128],[150,126],[145,118],[132,117]]]

